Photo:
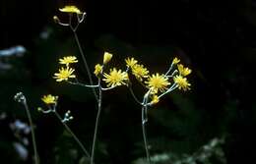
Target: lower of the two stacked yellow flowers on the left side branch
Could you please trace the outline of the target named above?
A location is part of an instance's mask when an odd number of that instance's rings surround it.
[[[57,82],[62,82],[62,81],[68,81],[69,78],[76,78],[75,75],[73,75],[74,73],[74,69],[72,68],[61,68],[59,69],[59,73],[55,73],[53,77],[54,79],[56,79]]]

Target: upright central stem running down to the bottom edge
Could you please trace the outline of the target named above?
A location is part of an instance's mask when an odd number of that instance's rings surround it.
[[[102,90],[101,90],[101,80],[98,78],[98,102],[97,102],[97,114],[96,114],[96,128],[95,128],[95,134],[94,134],[94,141],[92,146],[92,155],[91,155],[91,164],[94,164],[95,160],[95,150],[96,150],[96,135],[97,135],[97,128],[99,123],[99,116],[101,112],[101,101],[102,101]]]

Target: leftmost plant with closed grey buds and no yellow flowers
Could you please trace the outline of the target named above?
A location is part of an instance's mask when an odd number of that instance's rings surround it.
[[[26,109],[26,113],[30,122],[30,127],[32,130],[32,148],[33,148],[33,155],[34,155],[34,163],[35,164],[39,164],[39,158],[38,158],[38,154],[37,154],[37,147],[36,147],[36,141],[35,141],[35,135],[34,135],[34,130],[33,130],[33,124],[32,124],[32,115],[29,109],[29,105],[27,103],[27,98],[24,95],[24,93],[22,92],[18,92],[15,96],[14,99],[19,102],[22,103]]]

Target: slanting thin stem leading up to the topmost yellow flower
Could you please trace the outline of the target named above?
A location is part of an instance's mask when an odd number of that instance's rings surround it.
[[[79,48],[80,54],[81,54],[81,56],[82,56],[82,59],[83,59],[85,68],[86,68],[86,70],[87,70],[87,74],[88,74],[88,77],[89,77],[90,84],[93,85],[94,82],[93,82],[93,79],[92,79],[92,75],[91,75],[91,72],[90,72],[90,68],[89,68],[89,66],[88,66],[88,63],[87,63],[85,54],[84,54],[84,52],[83,52],[83,49],[82,49],[82,47],[81,47],[81,44],[80,44],[80,41],[79,41],[79,38],[78,38],[78,35],[77,35],[76,30],[73,30],[73,33],[74,33],[76,42],[77,42],[77,44],[78,44],[78,48]],[[94,92],[94,94],[95,94],[96,100],[99,101],[99,99],[97,98],[97,95],[96,95],[96,89],[95,89],[95,88],[93,88],[93,92]]]

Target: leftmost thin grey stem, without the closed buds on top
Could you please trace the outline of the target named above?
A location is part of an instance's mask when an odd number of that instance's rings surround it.
[[[32,147],[33,147],[33,154],[34,154],[34,163],[39,164],[39,159],[38,159],[38,155],[37,155],[37,148],[36,148],[36,141],[35,141],[33,125],[32,125],[32,115],[31,115],[31,112],[30,112],[30,109],[29,109],[29,106],[27,104],[26,99],[24,100],[23,104],[25,106],[25,109],[26,109],[26,112],[27,112],[27,115],[28,115],[28,118],[29,118],[29,121],[30,121],[30,126],[31,126],[31,129],[32,129]]]

